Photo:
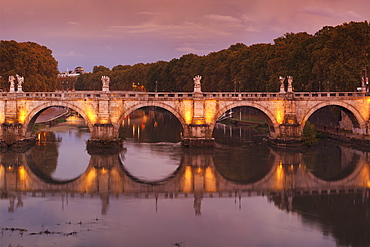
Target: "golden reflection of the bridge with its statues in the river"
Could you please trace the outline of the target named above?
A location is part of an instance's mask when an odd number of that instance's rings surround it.
[[[370,166],[368,155],[341,147],[343,163],[357,160],[355,168],[344,177],[326,181],[316,177],[299,154],[270,150],[269,165],[264,176],[246,182],[225,178],[215,165],[212,151],[186,149],[178,168],[160,181],[140,180],[124,166],[124,153],[91,155],[83,174],[68,181],[53,180],[37,171],[30,153],[1,156],[0,192],[2,198],[22,194],[32,196],[98,195],[107,205],[109,195],[137,198],[184,198],[193,196],[195,210],[200,212],[204,197],[281,196],[291,203],[302,195],[369,193]],[[364,194],[365,195],[365,194]],[[21,200],[21,199],[18,199]],[[104,209],[103,209],[104,211]]]

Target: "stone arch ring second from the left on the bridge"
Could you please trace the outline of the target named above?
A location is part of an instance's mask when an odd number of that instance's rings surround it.
[[[172,107],[169,104],[161,103],[161,102],[157,102],[157,101],[139,102],[137,104],[134,104],[134,105],[129,106],[127,109],[125,109],[125,111],[123,112],[123,114],[121,114],[121,116],[120,116],[120,118],[118,120],[118,126],[116,126],[116,128],[118,129],[120,127],[120,125],[122,124],[123,120],[128,115],[130,115],[132,112],[134,112],[135,110],[140,109],[142,107],[152,107],[152,106],[163,108],[163,109],[169,111],[170,113],[172,113],[179,120],[179,122],[181,123],[181,126],[182,126],[183,130],[185,131],[185,129],[186,129],[185,128],[185,126],[186,126],[185,119],[180,114],[180,112],[177,111],[174,107]]]

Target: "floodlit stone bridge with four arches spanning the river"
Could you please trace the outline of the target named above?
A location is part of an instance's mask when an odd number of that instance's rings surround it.
[[[234,107],[253,107],[264,113],[272,138],[301,137],[309,117],[325,106],[339,106],[353,133],[368,135],[369,97],[363,92],[3,92],[0,93],[0,136],[31,138],[36,118],[47,108],[61,106],[78,112],[91,139],[118,140],[122,121],[141,107],[161,107],[183,127],[186,146],[213,145],[217,120]]]

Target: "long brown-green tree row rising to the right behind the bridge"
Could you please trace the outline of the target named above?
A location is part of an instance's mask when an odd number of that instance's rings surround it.
[[[354,91],[370,65],[370,26],[365,22],[324,27],[314,35],[287,33],[273,44],[238,43],[206,56],[187,54],[169,62],[94,67],[77,90],[192,91],[196,75],[203,91],[278,91],[279,76],[293,76],[295,91]],[[370,67],[370,66],[369,66]]]

